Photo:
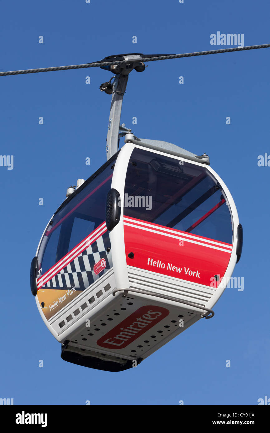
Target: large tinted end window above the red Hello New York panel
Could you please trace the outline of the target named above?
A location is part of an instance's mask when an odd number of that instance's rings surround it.
[[[232,243],[228,200],[206,167],[135,148],[122,206],[125,216]]]

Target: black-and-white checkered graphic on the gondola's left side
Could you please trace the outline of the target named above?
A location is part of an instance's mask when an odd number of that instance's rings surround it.
[[[43,287],[51,289],[75,287],[77,290],[88,288],[94,281],[98,280],[98,278],[112,268],[111,249],[109,252],[106,251],[107,247],[110,246],[109,234],[106,231]],[[105,259],[106,268],[96,275],[94,273],[94,265],[101,259]]]

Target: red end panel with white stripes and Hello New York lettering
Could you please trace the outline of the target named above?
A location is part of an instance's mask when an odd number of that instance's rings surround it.
[[[127,265],[209,287],[218,285],[214,275],[224,276],[232,250],[232,244],[126,216],[124,239]]]

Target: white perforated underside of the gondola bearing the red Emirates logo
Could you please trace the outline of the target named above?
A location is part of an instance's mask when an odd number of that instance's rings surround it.
[[[149,310],[152,311],[151,306],[156,307],[154,309],[156,311],[165,307],[169,310],[169,314],[149,330],[147,330],[146,326],[145,332],[144,329],[142,332],[138,332],[138,337],[136,335],[137,338],[124,348],[114,349],[115,346],[112,346],[111,349],[108,349],[97,344],[97,341],[109,331],[113,330],[140,307],[145,306],[150,306]],[[139,296],[128,296],[127,298],[120,298],[111,309],[104,313],[101,312],[98,318],[90,323],[90,326],[81,327],[80,331],[70,339],[66,350],[119,363],[126,363],[128,359],[144,359],[185,330],[194,321],[199,320],[199,318],[200,316],[192,311],[182,310],[169,304],[160,304]],[[88,324],[86,322],[86,325]],[[119,328],[117,332],[120,332],[120,329],[124,330],[124,328]],[[121,340],[113,341],[120,343]]]

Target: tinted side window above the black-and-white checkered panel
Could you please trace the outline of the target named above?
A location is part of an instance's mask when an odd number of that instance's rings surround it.
[[[44,274],[94,229],[104,223],[107,193],[111,188],[113,162],[93,175],[60,207],[49,223],[38,252],[39,275]]]

